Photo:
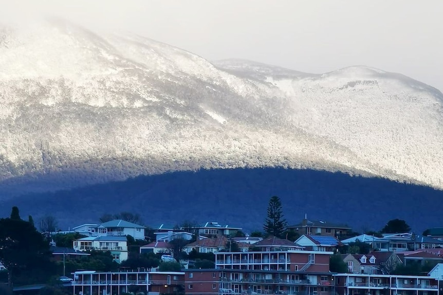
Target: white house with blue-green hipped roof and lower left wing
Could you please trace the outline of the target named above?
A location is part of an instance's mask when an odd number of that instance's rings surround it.
[[[86,223],[73,227],[72,229],[88,237],[98,237],[100,235],[132,235],[136,240],[144,240],[145,227],[118,219],[101,224]]]

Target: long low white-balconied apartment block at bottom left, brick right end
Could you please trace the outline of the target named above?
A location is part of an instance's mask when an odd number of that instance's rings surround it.
[[[73,295],[183,294],[184,272],[76,271]]]

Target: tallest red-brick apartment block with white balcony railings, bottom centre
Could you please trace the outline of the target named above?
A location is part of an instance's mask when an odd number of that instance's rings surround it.
[[[217,252],[219,293],[333,294],[334,280],[329,272],[331,254],[333,252],[305,250]]]

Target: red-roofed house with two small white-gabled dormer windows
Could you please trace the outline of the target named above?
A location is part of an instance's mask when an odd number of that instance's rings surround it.
[[[402,264],[401,255],[395,252],[373,251],[368,254],[342,254],[348,273],[389,274]]]

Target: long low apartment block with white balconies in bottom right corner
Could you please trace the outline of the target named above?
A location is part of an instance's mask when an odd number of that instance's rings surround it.
[[[335,277],[338,295],[439,295],[443,293],[440,290],[441,281],[432,275],[432,272],[428,276],[341,273],[336,274]]]

